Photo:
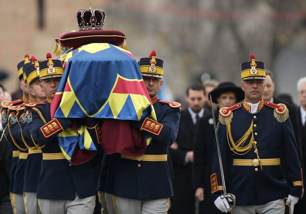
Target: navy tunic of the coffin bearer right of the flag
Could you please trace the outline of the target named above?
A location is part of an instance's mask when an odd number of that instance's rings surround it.
[[[159,135],[150,134],[153,140],[147,147],[145,155],[166,155],[169,146],[177,136],[181,114],[180,108],[172,108],[168,104],[161,102],[156,102],[153,107],[157,122],[161,123],[163,127]],[[142,122],[133,121],[130,124],[140,130]],[[167,161],[130,160],[122,158],[118,153],[111,156],[105,192],[118,197],[137,200],[173,196]]]

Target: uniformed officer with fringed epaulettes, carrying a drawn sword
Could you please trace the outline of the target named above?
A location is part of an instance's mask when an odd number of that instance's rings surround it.
[[[236,196],[232,213],[284,213],[286,205],[294,204],[302,193],[302,170],[298,159],[288,109],[284,104],[265,102],[264,62],[251,61],[241,64],[241,86],[245,100],[241,104],[220,109],[218,138],[224,180],[229,192]],[[212,155],[212,194],[216,207],[228,212],[223,192],[217,145]],[[280,165],[281,152],[289,180],[283,176]],[[227,167],[231,164],[230,172]],[[231,200],[229,200],[231,202]]]

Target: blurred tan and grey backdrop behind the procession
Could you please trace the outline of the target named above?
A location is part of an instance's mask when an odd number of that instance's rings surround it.
[[[0,1],[0,78],[19,88],[17,64],[25,54],[44,60],[63,32],[78,30],[84,0]],[[166,93],[181,101],[195,81],[210,78],[240,85],[240,63],[253,53],[274,73],[276,95],[289,93],[306,76],[305,0],[91,0],[105,12],[106,30],[127,36],[139,60],[156,50],[164,60]],[[54,54],[53,54],[54,56]],[[8,77],[5,77],[8,75]],[[202,77],[202,78],[201,78]]]

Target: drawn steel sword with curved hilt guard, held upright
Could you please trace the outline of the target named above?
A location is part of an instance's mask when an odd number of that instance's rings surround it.
[[[210,96],[210,101],[211,101],[211,106],[212,106],[212,95],[209,95],[209,96]],[[227,198],[232,199],[233,205],[231,206],[231,204],[229,204],[230,208],[227,209],[228,212],[231,212],[233,207],[235,206],[236,197],[231,193],[226,193],[224,173],[223,173],[223,167],[222,167],[222,159],[221,159],[221,152],[220,152],[220,145],[219,145],[219,139],[218,139],[218,134],[217,134],[217,126],[216,126],[215,113],[214,113],[213,106],[212,106],[212,119],[214,121],[214,128],[215,128],[215,135],[216,135],[216,142],[217,142],[217,150],[218,150],[218,157],[219,157],[220,171],[221,171],[221,178],[222,178],[222,186],[223,186],[223,192],[224,192],[224,194],[221,195],[221,199],[225,198],[227,200],[227,202],[228,202]]]

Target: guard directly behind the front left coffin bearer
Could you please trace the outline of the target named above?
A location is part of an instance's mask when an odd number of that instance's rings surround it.
[[[29,102],[30,103],[37,103],[37,105],[44,104],[43,102],[37,102],[34,97],[35,93],[33,93],[33,88],[38,91],[38,94],[42,99],[46,97],[44,92],[39,86],[39,62],[35,57],[32,57],[33,64],[29,65],[25,70],[26,76],[26,85],[29,91]],[[33,87],[33,82],[35,86]],[[38,83],[38,84],[37,84]],[[32,90],[32,91],[31,91]],[[42,95],[43,93],[43,95]],[[20,112],[19,116],[19,125],[21,128],[21,136],[23,143],[28,147],[28,157],[26,159],[26,166],[24,172],[24,187],[23,187],[23,199],[26,211],[28,214],[37,214],[41,213],[40,208],[38,206],[37,198],[36,198],[36,191],[38,185],[38,179],[40,175],[41,169],[41,161],[43,159],[41,148],[35,141],[32,140],[30,133],[28,132],[28,120],[30,120],[30,112],[31,111],[24,111],[25,107],[20,107],[17,109]],[[29,117],[28,117],[29,114]]]

